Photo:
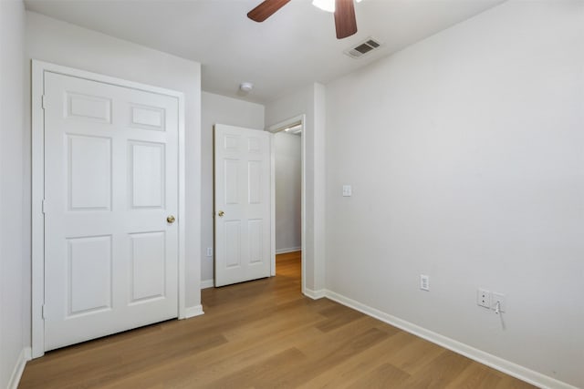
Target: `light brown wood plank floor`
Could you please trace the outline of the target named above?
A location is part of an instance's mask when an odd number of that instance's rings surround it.
[[[70,346],[26,364],[19,388],[532,388],[277,276],[202,292],[203,316]]]

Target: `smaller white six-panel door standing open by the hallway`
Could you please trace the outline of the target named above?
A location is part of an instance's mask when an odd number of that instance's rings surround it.
[[[215,125],[215,286],[270,276],[270,136]]]

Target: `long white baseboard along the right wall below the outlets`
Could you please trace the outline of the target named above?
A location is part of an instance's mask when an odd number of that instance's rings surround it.
[[[325,297],[330,300],[339,302],[340,304],[346,305],[356,311],[363,312],[371,317],[374,317],[375,319],[381,320],[381,322],[387,322],[388,324],[391,324],[394,327],[398,327],[405,332],[412,333],[429,342],[436,343],[440,346],[443,346],[444,348],[447,348],[448,350],[453,351],[454,353],[460,353],[478,363],[483,363],[489,367],[494,368],[495,370],[514,376],[529,384],[534,384],[537,387],[549,389],[578,389],[575,386],[563,383],[545,374],[537,373],[533,370],[527,369],[527,367],[509,362],[506,359],[499,358],[493,354],[485,353],[484,351],[469,346],[468,344],[455,341],[454,339],[443,336],[440,333],[433,333],[432,331],[413,324],[412,322],[406,322],[398,317],[392,316],[391,314],[381,312],[380,310],[372,308],[368,305],[351,300],[339,293],[328,290],[325,290],[324,293]]]

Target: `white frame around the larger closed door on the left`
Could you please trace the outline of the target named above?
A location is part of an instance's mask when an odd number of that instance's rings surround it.
[[[45,93],[45,73],[57,73],[69,77],[78,77],[98,81],[118,87],[130,87],[145,92],[156,93],[178,100],[178,318],[186,317],[185,300],[185,147],[184,147],[184,94],[162,87],[128,81],[91,73],[72,67],[63,67],[48,62],[32,60],[32,204],[31,204],[31,240],[32,240],[32,357],[45,353],[45,320],[43,305],[45,303],[45,217],[43,200],[45,193],[45,116],[43,95]]]

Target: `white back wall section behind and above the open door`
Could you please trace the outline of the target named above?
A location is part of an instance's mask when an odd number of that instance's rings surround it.
[[[202,245],[201,280],[203,286],[212,286],[214,278],[214,257],[207,257],[207,247],[214,247],[213,223],[213,126],[230,126],[264,129],[264,106],[231,97],[203,92],[201,125],[201,220]]]

